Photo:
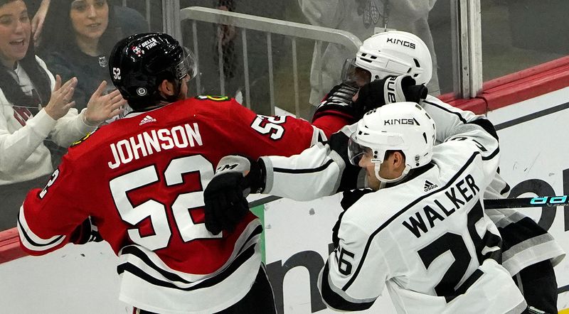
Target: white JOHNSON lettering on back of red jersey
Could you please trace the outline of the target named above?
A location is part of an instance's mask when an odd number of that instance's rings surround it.
[[[197,123],[174,126],[170,129],[144,131],[137,136],[122,139],[110,145],[114,161],[109,161],[109,168],[137,160],[140,157],[174,147],[202,146],[201,134]]]

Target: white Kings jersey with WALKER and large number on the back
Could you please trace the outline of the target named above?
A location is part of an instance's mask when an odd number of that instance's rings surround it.
[[[447,141],[435,146],[429,165],[403,183],[363,195],[344,212],[339,246],[319,280],[329,307],[369,308],[387,286],[398,313],[521,313],[526,308],[499,264],[501,237],[484,214],[482,195],[496,173],[499,146],[482,126],[455,126]],[[345,168],[328,144],[263,161],[265,193],[304,200],[333,193]]]

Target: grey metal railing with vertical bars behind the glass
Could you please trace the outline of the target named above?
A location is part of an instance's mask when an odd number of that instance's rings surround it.
[[[354,36],[353,34],[340,31],[334,28],[324,28],[320,26],[312,26],[302,23],[294,23],[289,21],[277,20],[274,18],[265,18],[261,16],[250,16],[243,13],[228,12],[218,9],[209,9],[199,6],[191,6],[185,9],[181,9],[180,12],[181,21],[191,20],[192,21],[192,32],[193,32],[193,53],[196,56],[196,63],[198,64],[199,70],[199,55],[198,55],[198,40],[197,40],[197,26],[196,22],[208,22],[216,23],[221,25],[235,26],[240,28],[241,40],[243,40],[243,71],[245,77],[245,106],[250,108],[250,82],[249,82],[249,57],[247,53],[247,33],[248,31],[262,31],[266,34],[267,38],[267,59],[268,59],[268,70],[269,70],[269,88],[270,88],[270,105],[271,113],[275,113],[275,82],[273,73],[273,60],[272,60],[272,45],[271,36],[272,34],[278,34],[286,36],[292,40],[292,77],[294,84],[294,114],[300,117],[300,105],[299,105],[299,73],[298,73],[298,61],[297,61],[297,38],[304,38],[309,40],[315,40],[317,47],[317,54],[321,60],[322,53],[322,43],[336,43],[343,45],[349,50],[353,50],[355,55],[359,46],[361,45],[361,40]],[[218,43],[218,50],[221,49],[220,43]],[[218,53],[219,63],[222,64],[221,60],[222,54]],[[321,72],[321,61],[319,61],[320,69],[319,72],[319,86],[322,86],[322,72]],[[225,94],[225,80],[223,73],[223,66],[219,66],[219,77],[220,77],[220,90],[222,94]],[[196,88],[201,90],[201,80],[200,77],[196,77]],[[322,90],[322,88],[320,88]]]

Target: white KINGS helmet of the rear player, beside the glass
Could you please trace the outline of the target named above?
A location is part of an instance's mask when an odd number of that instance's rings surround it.
[[[353,65],[370,72],[371,80],[407,74],[426,85],[432,77],[429,48],[421,38],[404,31],[377,33],[363,40]]]

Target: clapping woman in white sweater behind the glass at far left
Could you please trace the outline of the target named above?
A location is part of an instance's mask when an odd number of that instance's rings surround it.
[[[106,82],[78,114],[77,82],[62,85],[36,56],[24,1],[0,0],[0,230],[16,225],[28,190],[45,185],[53,171],[48,136],[69,146],[119,114],[124,100],[118,92],[102,95]]]

